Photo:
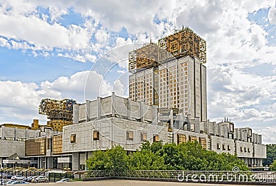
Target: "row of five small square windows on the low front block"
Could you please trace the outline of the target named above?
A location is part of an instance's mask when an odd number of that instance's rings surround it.
[[[146,142],[147,139],[147,133],[141,133],[141,142]],[[99,131],[93,131],[93,140],[99,140]],[[126,131],[126,140],[133,140],[133,131]],[[75,133],[70,135],[70,142],[76,142]],[[159,135],[153,136],[153,142],[159,142]]]

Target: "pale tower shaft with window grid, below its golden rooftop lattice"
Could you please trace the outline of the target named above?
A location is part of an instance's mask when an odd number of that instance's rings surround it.
[[[179,109],[179,113],[207,120],[206,66],[197,57],[169,59],[129,77],[129,96],[137,102]]]

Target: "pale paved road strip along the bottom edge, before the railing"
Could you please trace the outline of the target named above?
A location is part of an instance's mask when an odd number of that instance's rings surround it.
[[[159,182],[159,181],[141,181],[141,180],[95,180],[86,182],[70,182],[70,183],[32,183],[30,185],[48,185],[48,186],[109,186],[109,185],[119,185],[119,186],[228,186],[225,184],[206,184],[206,183],[177,183],[177,182]],[[241,185],[238,185],[241,186]],[[248,185],[250,186],[250,185]]]

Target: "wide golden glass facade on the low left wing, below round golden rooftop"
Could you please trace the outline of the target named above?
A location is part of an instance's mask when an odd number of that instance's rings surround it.
[[[46,155],[46,138],[32,138],[25,141],[26,156]]]

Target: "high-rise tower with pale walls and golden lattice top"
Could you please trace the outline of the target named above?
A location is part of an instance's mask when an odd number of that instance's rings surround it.
[[[190,28],[129,53],[129,96],[207,120],[206,41]]]

